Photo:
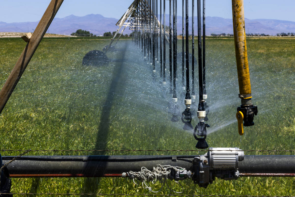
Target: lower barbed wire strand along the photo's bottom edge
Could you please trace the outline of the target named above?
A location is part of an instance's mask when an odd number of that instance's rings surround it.
[[[63,195],[63,196],[70,196],[70,195],[88,195],[88,196],[199,196],[199,197],[295,197],[295,196],[265,196],[265,195],[201,195],[201,194],[109,194],[109,193],[0,193],[0,195],[5,194],[16,194],[16,195]]]

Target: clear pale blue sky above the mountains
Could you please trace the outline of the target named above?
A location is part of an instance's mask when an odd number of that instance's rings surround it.
[[[191,1],[189,0],[190,5]],[[38,21],[49,2],[50,0],[1,0],[0,21],[9,23]],[[56,17],[63,18],[71,14],[76,16],[101,14],[104,17],[119,19],[132,2],[133,0],[64,0]],[[166,2],[168,5],[168,1]],[[232,18],[231,0],[206,0],[206,3],[207,16]],[[178,0],[178,15],[182,14],[181,5],[182,1]],[[295,0],[244,0],[244,7],[245,17],[248,19],[265,18],[295,22]]]

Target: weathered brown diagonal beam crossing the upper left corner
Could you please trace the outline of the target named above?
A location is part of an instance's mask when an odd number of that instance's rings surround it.
[[[0,113],[2,112],[6,102],[8,101],[9,97],[11,96],[14,88],[17,85],[17,82],[21,78],[24,70],[26,69],[27,65],[29,64],[32,56],[34,55],[39,43],[41,42],[45,32],[47,31],[50,23],[52,22],[55,14],[57,13],[60,5],[63,3],[63,0],[51,0],[50,4],[48,5],[44,15],[42,16],[39,24],[37,25],[32,37],[28,41],[24,51],[22,52],[21,56],[19,57],[17,63],[15,64],[14,68],[12,69],[8,79],[6,80],[4,86],[0,92]]]

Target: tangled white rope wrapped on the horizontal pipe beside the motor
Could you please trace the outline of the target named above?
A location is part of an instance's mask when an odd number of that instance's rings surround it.
[[[163,186],[165,185],[166,179],[168,179],[168,176],[171,174],[171,170],[175,170],[177,172],[177,171],[185,170],[185,168],[178,167],[178,166],[157,164],[156,167],[153,167],[152,171],[148,170],[146,167],[142,167],[141,171],[139,172],[133,172],[133,171],[123,172],[122,177],[124,178],[128,176],[130,179],[133,180],[133,183],[135,183],[135,179],[137,181],[141,181],[143,188],[148,189],[150,192],[157,193],[162,190]],[[153,189],[149,187],[146,182],[151,181],[153,184],[155,184],[157,180],[160,181],[160,183],[162,183],[162,186],[159,191],[153,191]],[[138,185],[137,183],[135,184]],[[175,192],[175,193],[182,193],[182,192]]]

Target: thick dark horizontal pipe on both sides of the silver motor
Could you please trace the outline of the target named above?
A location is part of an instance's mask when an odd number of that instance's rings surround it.
[[[10,177],[120,177],[123,172],[153,170],[157,164],[192,170],[192,156],[22,156],[7,168]],[[2,157],[3,163],[14,156]],[[295,176],[294,155],[245,155],[241,176]]]

